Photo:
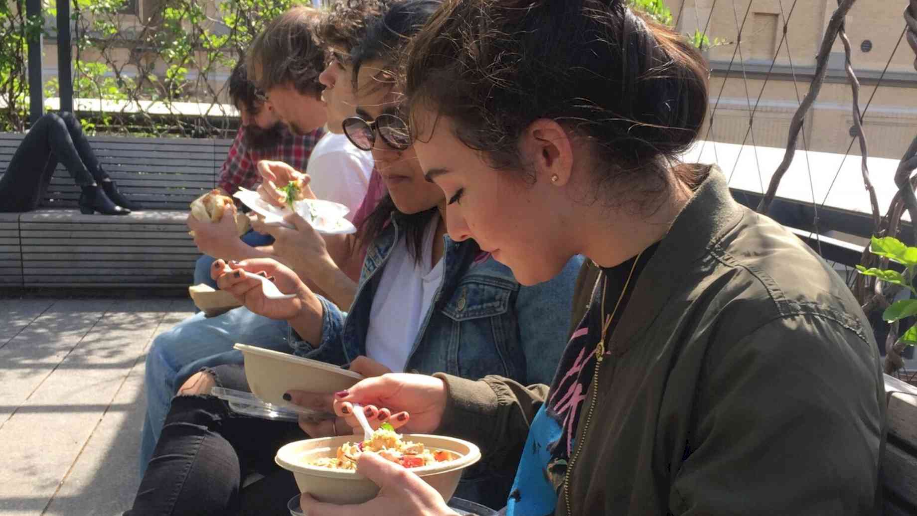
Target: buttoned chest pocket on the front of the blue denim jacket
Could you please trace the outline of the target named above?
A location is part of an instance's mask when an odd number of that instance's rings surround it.
[[[447,371],[468,379],[487,375],[513,378],[525,373],[509,350],[517,338],[511,281],[470,276],[462,280],[440,312],[451,324],[448,330]]]

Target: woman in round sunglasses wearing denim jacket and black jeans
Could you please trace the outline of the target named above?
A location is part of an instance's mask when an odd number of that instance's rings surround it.
[[[423,20],[417,16],[432,12],[437,4],[410,0],[393,7],[382,22],[379,38],[373,39],[370,30],[368,40],[380,41],[392,33],[392,27],[399,26],[399,21],[403,27],[419,27]],[[380,41],[379,45],[395,48],[391,41]],[[371,50],[364,55],[372,55]],[[357,62],[359,66],[359,57]],[[370,60],[364,68],[375,73],[385,70],[386,62]],[[379,80],[378,75],[375,80]],[[220,288],[236,294],[253,313],[289,321],[288,342],[299,356],[338,365],[369,356],[395,370],[449,371],[469,379],[499,374],[527,383],[549,381],[563,347],[557,343],[565,341],[569,329],[573,288],[582,259],[571,259],[554,280],[520,287],[510,269],[473,241],[450,240],[441,215],[447,200],[436,185],[424,180],[414,149],[397,137],[399,119],[391,114],[395,104],[390,99],[396,96],[392,86],[370,87],[361,93],[361,118],[349,119],[345,130],[358,147],[368,144],[372,148],[390,197],[383,199],[361,228],[371,243],[350,313],[345,316],[333,303],[309,291],[292,270],[273,260],[219,264],[223,270],[215,276]],[[383,121],[387,126],[380,127]],[[392,271],[405,270],[406,262],[410,274],[386,279],[386,271],[391,275]],[[399,304],[402,298],[392,292],[398,285],[415,281],[416,276],[435,276],[437,267],[442,269],[438,288],[428,302],[421,303],[425,309],[419,317],[412,318],[410,306]],[[244,276],[237,278],[237,269],[264,273],[281,291],[296,293],[296,297],[266,300],[260,283]],[[386,308],[393,310],[387,312]],[[416,327],[414,336],[398,350],[401,354],[395,353],[397,358],[380,351],[379,337],[385,336],[380,328],[387,325],[410,325],[412,331]],[[365,357],[360,363],[365,363]],[[292,475],[273,464],[276,450],[303,439],[304,430],[319,436],[346,428],[338,420],[303,423],[301,428],[295,423],[240,416],[224,401],[206,394],[212,386],[248,390],[244,369],[235,365],[206,369],[185,383],[182,394],[199,395],[180,395],[172,401],[134,508],[126,514],[226,514],[250,504],[259,504],[260,514],[284,513],[286,500],[297,489]],[[293,402],[315,406],[315,396],[306,403],[309,397],[304,393],[290,395]],[[330,407],[330,400],[319,402]],[[521,448],[511,452],[508,456],[514,458],[499,464],[481,463],[470,469],[456,496],[501,504],[521,452]],[[246,496],[240,497],[240,479],[250,470],[269,478],[256,484],[258,495],[247,490]]]

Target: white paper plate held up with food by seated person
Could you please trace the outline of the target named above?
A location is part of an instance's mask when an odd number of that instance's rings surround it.
[[[251,208],[251,211],[264,217],[266,225],[280,225],[293,229],[293,225],[283,221],[291,213],[290,208],[279,208],[261,199],[258,192],[239,188],[233,197]],[[309,222],[315,231],[325,235],[348,235],[356,233],[357,228],[344,218],[350,210],[347,206],[320,199],[304,199],[293,203],[293,209],[299,216]]]

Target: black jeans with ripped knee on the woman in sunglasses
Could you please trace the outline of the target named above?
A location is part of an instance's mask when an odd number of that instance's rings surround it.
[[[206,369],[219,387],[249,390],[241,366]],[[278,515],[299,492],[293,474],[274,463],[282,446],[307,438],[297,423],[233,412],[214,396],[177,396],[125,516]],[[240,493],[242,476],[267,478]]]

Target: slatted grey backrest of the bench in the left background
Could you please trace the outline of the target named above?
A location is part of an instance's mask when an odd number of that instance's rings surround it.
[[[25,135],[0,133],[0,173]],[[102,168],[118,188],[155,210],[186,210],[214,188],[232,140],[148,137],[89,137]],[[67,170],[54,171],[44,207],[76,207],[80,190]]]

